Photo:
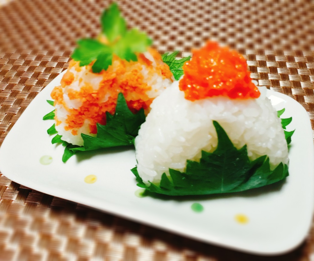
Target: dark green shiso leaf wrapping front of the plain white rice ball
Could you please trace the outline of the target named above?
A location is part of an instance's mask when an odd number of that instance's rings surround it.
[[[213,153],[202,151],[200,162],[187,160],[185,172],[169,169],[170,177],[164,173],[158,185],[145,185],[135,167],[131,171],[137,185],[154,193],[172,196],[208,195],[258,188],[289,175],[288,166],[283,164],[271,171],[266,155],[250,161],[246,146],[236,149],[219,123],[213,123],[218,136],[218,146]]]

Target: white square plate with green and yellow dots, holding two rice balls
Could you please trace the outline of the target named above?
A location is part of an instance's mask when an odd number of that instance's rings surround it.
[[[9,179],[60,198],[72,200],[187,237],[256,254],[281,254],[297,247],[308,232],[314,206],[313,137],[306,110],[292,98],[268,90],[283,117],[293,117],[296,129],[289,152],[290,176],[268,187],[226,195],[184,198],[139,198],[132,149],[85,152],[62,162],[64,147],[51,144],[42,117],[53,108],[46,100],[60,84],[60,74],[26,108],[0,148],[0,170]],[[42,165],[43,155],[52,163]],[[88,175],[97,181],[84,182]],[[193,212],[200,203],[204,210]],[[236,215],[248,218],[246,224]]]

